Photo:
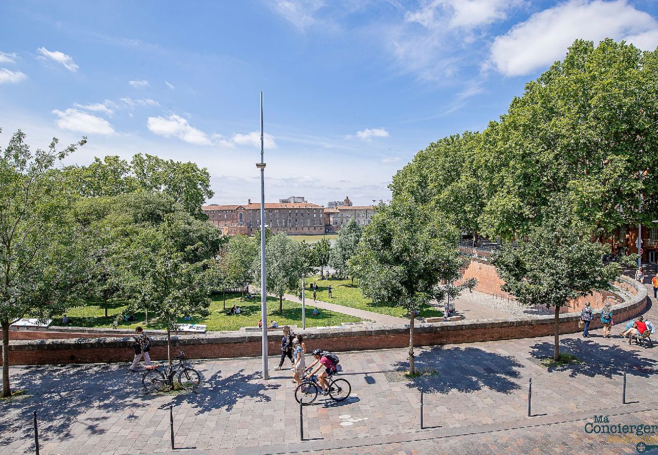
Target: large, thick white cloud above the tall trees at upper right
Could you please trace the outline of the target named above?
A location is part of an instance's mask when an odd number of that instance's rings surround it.
[[[497,37],[491,62],[506,76],[524,76],[562,59],[575,39],[597,43],[606,37],[653,50],[658,22],[626,0],[570,0],[533,14]]]

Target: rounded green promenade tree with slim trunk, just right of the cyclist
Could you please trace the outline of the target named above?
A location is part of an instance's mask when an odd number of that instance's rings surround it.
[[[459,233],[442,216],[420,210],[409,195],[381,204],[365,227],[349,273],[363,295],[375,302],[395,302],[409,310],[409,373],[415,374],[415,312],[431,299],[443,300],[440,281],[460,276],[467,258],[457,249]],[[474,286],[469,281],[468,286]]]

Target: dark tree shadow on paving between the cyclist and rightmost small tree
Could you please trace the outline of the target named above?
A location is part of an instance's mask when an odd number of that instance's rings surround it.
[[[513,381],[521,377],[518,369],[523,368],[516,358],[480,348],[437,346],[418,354],[415,364],[424,374],[410,378],[406,386],[424,393],[468,393],[488,388],[510,394],[521,388]],[[409,362],[397,362],[393,368],[398,373],[407,371]]]

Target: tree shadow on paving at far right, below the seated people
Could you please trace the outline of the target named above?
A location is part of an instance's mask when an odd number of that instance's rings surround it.
[[[554,348],[553,343],[536,343],[531,347],[530,355],[536,359],[553,358]],[[656,372],[658,364],[656,360],[643,357],[642,351],[636,352],[624,345],[601,345],[592,339],[563,339],[560,341],[560,352],[576,356],[584,363],[551,366],[549,373],[569,371],[570,377],[601,375],[611,379],[614,375],[622,375],[628,368],[629,374],[649,377]]]

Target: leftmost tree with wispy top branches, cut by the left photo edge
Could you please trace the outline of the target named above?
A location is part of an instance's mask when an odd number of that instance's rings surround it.
[[[3,333],[3,396],[9,388],[9,325],[25,314],[61,314],[74,299],[81,243],[70,222],[72,198],[51,170],[57,160],[86,143],[57,151],[30,151],[18,130],[0,150],[0,325]]]

